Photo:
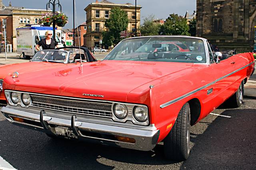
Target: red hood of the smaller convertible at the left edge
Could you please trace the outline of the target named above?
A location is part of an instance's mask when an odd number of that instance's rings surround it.
[[[27,63],[17,63],[17,64],[5,64],[0,66],[0,79],[4,79],[8,74],[13,72],[18,72],[19,74],[25,72],[33,72],[36,70],[44,70],[48,68],[54,68],[58,66],[63,66],[63,63],[47,63],[47,62],[27,62]]]

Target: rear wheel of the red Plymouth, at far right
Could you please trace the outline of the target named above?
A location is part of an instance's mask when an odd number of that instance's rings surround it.
[[[240,107],[244,100],[244,80],[241,82],[240,86],[236,90],[236,93],[230,97],[229,103],[232,107]]]

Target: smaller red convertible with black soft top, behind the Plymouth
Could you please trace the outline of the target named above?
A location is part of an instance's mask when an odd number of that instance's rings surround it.
[[[80,51],[78,53],[78,51]],[[24,72],[33,72],[34,70],[45,70],[66,66],[66,64],[76,64],[76,59],[84,58],[85,54],[88,53],[88,58],[86,62],[96,61],[92,53],[81,47],[62,47],[57,50],[44,50],[43,52],[36,53],[34,57],[28,63],[19,63],[19,64],[6,64],[0,66],[0,104],[6,104],[4,93],[2,92],[2,85],[4,78],[13,72],[18,72],[22,74]]]

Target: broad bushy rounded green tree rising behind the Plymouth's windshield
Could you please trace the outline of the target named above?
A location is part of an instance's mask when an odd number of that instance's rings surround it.
[[[170,14],[166,22],[161,25],[159,33],[161,35],[190,35],[187,19],[178,14]]]

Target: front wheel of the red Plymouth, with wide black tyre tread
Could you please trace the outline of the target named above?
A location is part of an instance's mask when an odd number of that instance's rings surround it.
[[[170,133],[164,139],[164,154],[167,159],[186,160],[190,148],[190,107],[186,103],[180,109]]]

